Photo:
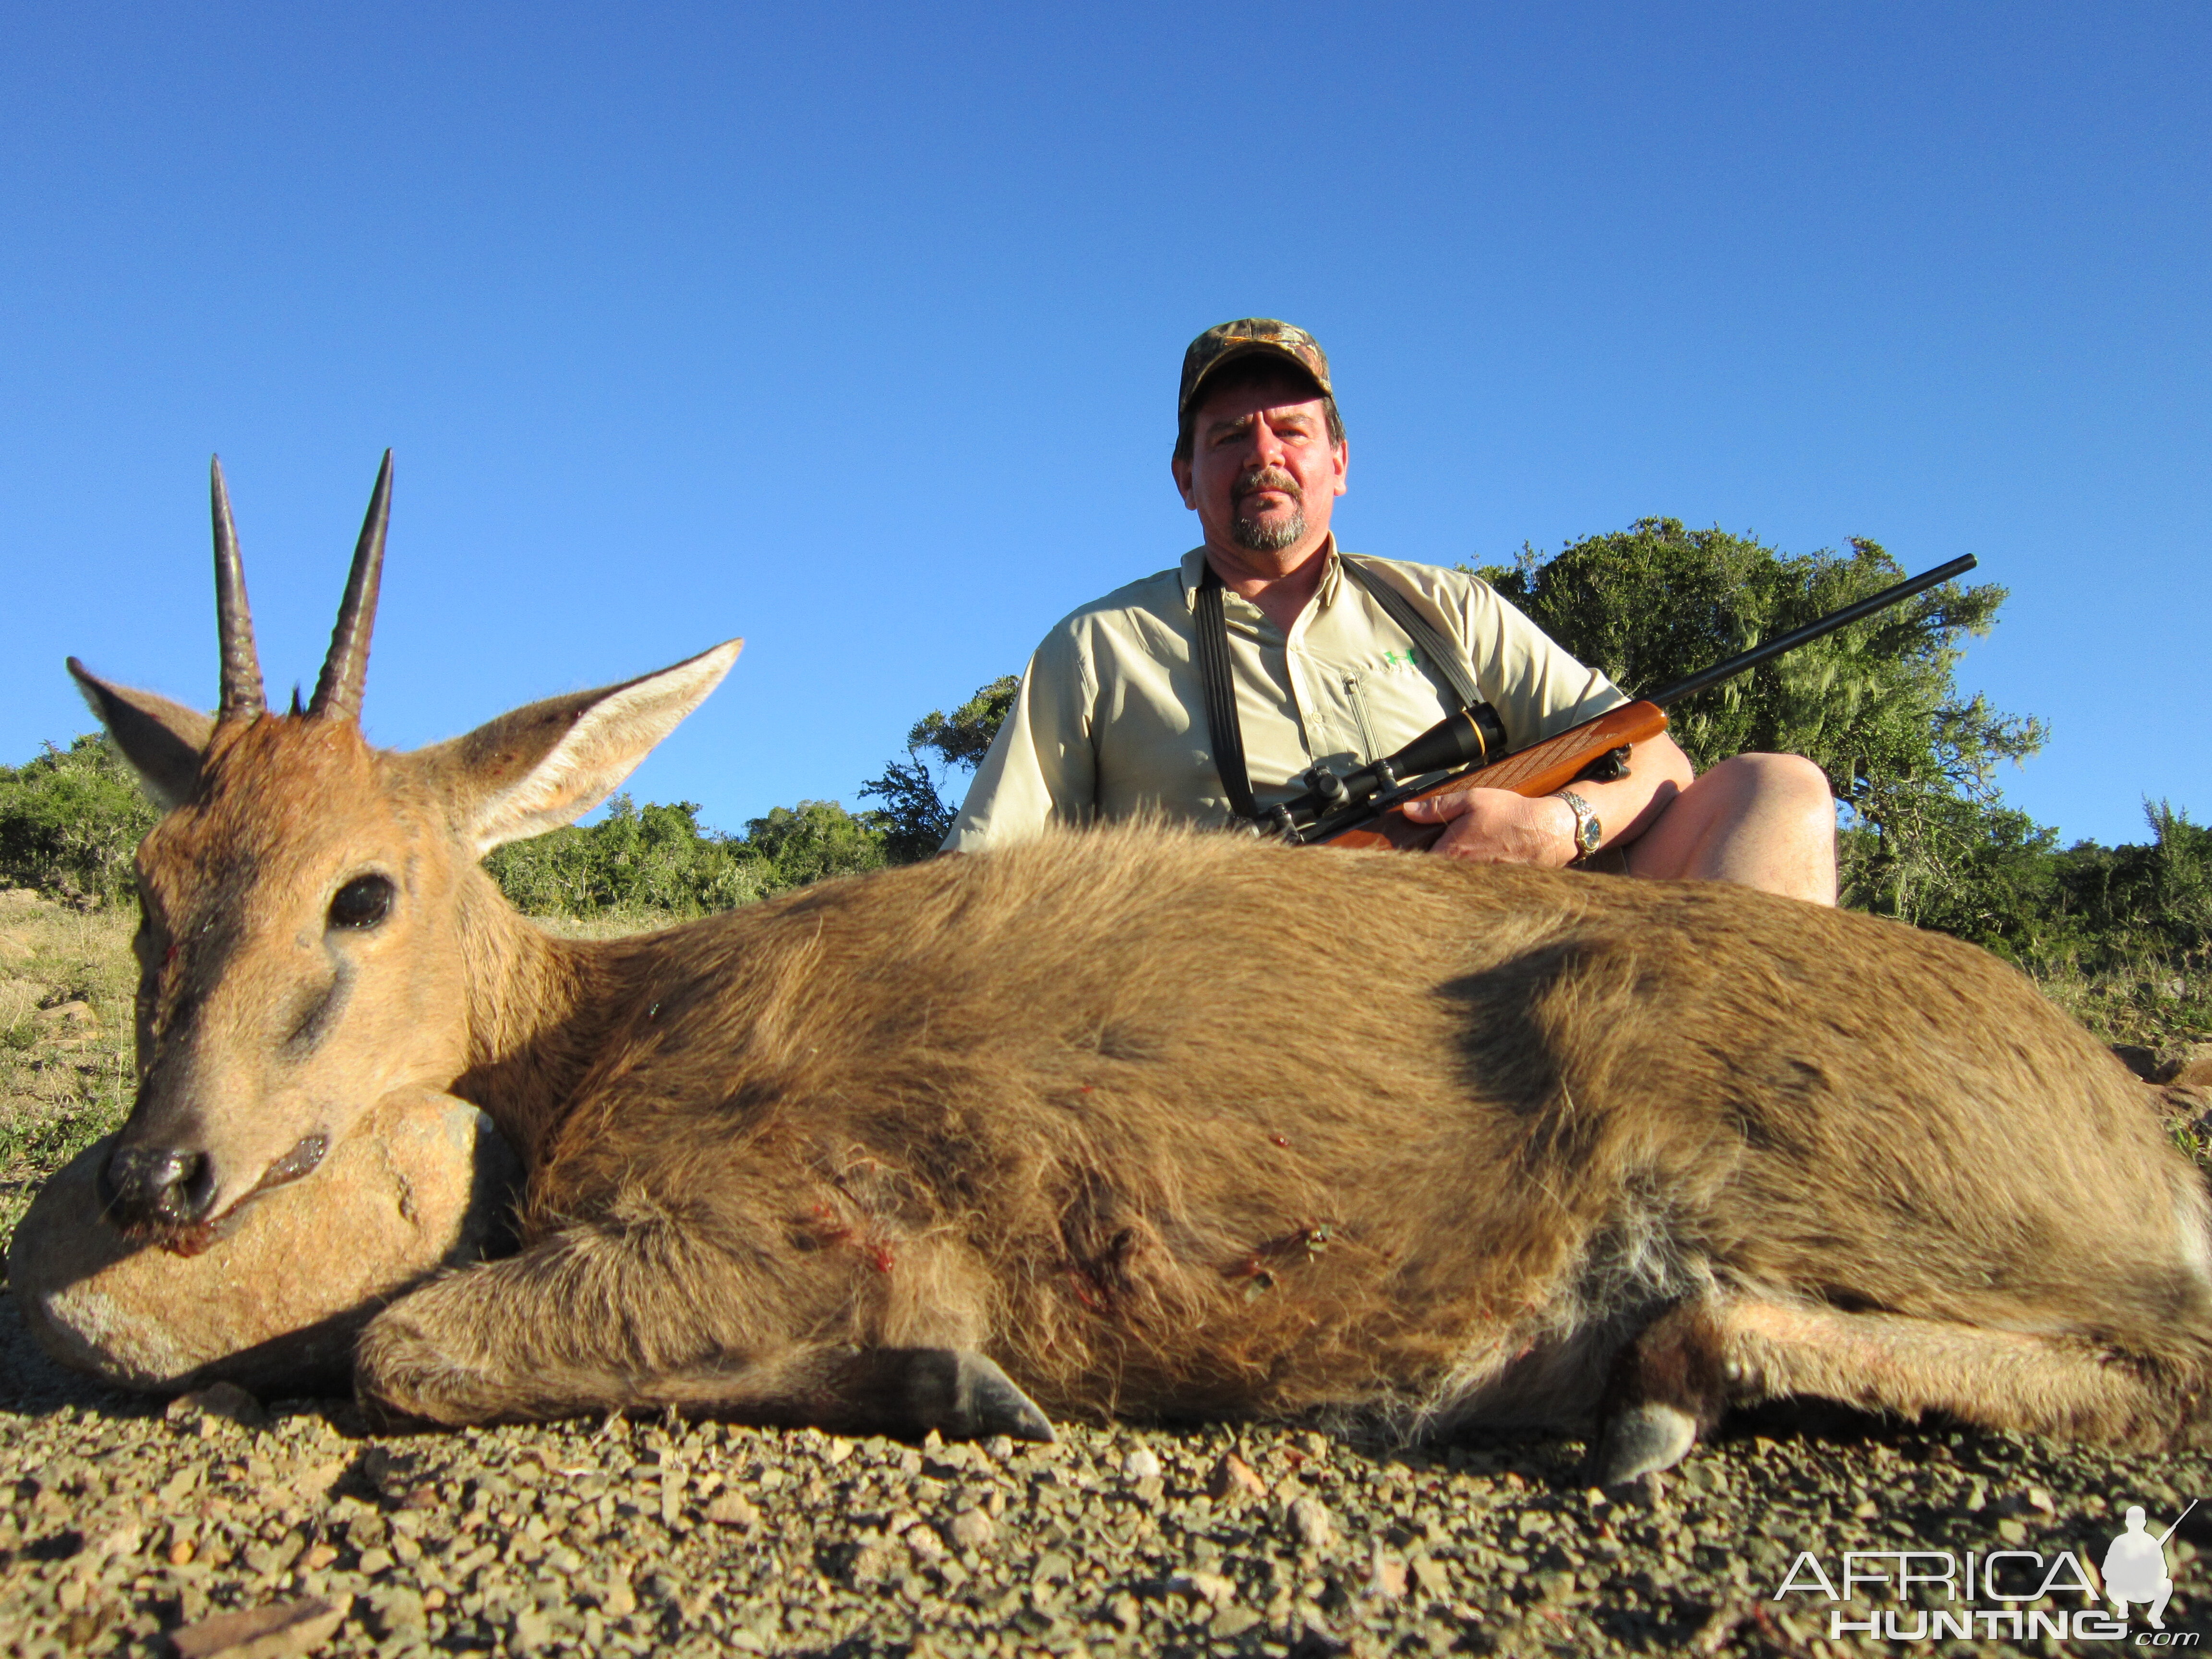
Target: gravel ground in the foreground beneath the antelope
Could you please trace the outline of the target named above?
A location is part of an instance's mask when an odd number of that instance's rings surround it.
[[[619,1418],[374,1438],[341,1400],[93,1389],[0,1296],[0,1652],[168,1652],[179,1624],[310,1595],[345,1606],[305,1648],[330,1655],[1843,1652],[1827,1601],[1772,1599],[1798,1551],[1832,1575],[1843,1551],[1902,1546],[2101,1562],[2126,1504],[2157,1528],[2212,1493],[2201,1453],[1807,1411],[1739,1420],[1617,1500],[1582,1486],[1582,1451],[1225,1427],[907,1447]],[[2205,1511],[2168,1546],[2170,1630],[2201,1628],[2199,1544]]]

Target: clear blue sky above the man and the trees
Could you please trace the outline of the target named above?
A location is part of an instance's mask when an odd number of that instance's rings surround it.
[[[0,759],[62,655],[274,690],[385,445],[376,741],[745,635],[637,774],[741,823],[1194,540],[1183,343],[1327,345],[1349,546],[1639,515],[1978,553],[2008,796],[2212,816],[2197,4],[11,7]]]

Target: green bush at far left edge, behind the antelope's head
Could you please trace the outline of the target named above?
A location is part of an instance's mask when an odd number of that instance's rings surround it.
[[[133,891],[131,858],[161,814],[104,732],[0,765],[0,887],[73,902]]]

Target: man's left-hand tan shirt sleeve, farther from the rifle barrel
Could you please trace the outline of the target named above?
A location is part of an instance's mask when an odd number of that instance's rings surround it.
[[[1091,679],[1075,630],[1053,628],[1029,659],[1022,692],[975,768],[967,801],[945,832],[945,852],[1029,841],[1055,821],[1088,823],[1097,805]]]

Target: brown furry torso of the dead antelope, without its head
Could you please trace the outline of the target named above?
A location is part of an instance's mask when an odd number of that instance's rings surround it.
[[[509,1356],[471,1416],[582,1409],[544,1391],[608,1327],[633,1387],[984,1345],[1095,1416],[1573,1416],[1637,1323],[1728,1294],[2126,1356],[2166,1431],[2205,1360],[2203,1201],[2139,1086],[1986,953],[1863,916],[1124,830],[476,938],[471,1002],[529,984],[542,1026],[456,1086],[533,1166],[533,1252],[431,1294]],[[1573,1398],[1517,1407],[1577,1345]]]

